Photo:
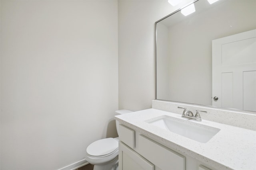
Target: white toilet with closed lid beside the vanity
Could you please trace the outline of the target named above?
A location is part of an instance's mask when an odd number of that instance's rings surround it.
[[[116,115],[130,113],[130,110],[117,110]],[[116,131],[118,133],[118,121]],[[118,170],[118,137],[100,139],[86,149],[86,160],[94,165],[93,170]]]

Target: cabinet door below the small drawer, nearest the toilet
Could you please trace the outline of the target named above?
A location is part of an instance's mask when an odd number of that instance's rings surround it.
[[[119,142],[119,170],[154,170],[154,165]]]

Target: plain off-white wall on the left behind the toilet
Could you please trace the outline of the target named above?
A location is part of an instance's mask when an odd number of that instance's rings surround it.
[[[1,170],[56,170],[116,136],[117,7],[1,1]]]

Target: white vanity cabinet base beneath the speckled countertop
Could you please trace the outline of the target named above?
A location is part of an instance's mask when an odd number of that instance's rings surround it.
[[[119,170],[210,170],[201,162],[119,125]]]

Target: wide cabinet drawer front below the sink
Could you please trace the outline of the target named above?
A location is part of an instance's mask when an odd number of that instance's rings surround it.
[[[136,150],[144,158],[162,170],[185,170],[185,156],[174,152],[152,141],[151,139],[138,135]]]

